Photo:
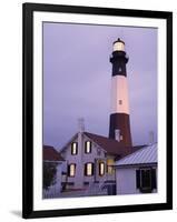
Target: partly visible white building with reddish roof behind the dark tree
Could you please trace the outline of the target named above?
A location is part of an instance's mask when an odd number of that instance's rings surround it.
[[[63,158],[53,147],[43,145],[43,164],[49,167],[55,164],[57,170],[55,184],[50,185],[48,190],[43,189],[43,198],[53,198],[60,194],[63,161]]]

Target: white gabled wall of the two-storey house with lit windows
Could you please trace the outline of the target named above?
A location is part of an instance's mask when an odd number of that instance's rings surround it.
[[[72,141],[78,142],[78,153],[76,155],[71,154],[71,143],[69,143],[67,149],[61,152],[66,160],[66,164],[76,163],[76,175],[67,176],[67,182],[75,189],[86,188],[88,184],[94,182],[97,183],[106,180],[115,180],[115,174],[108,175],[106,173],[107,159],[114,159],[114,157],[107,155],[106,152],[92,141],[91,153],[85,153],[86,141],[91,140],[83,133],[78,133],[78,137]],[[99,175],[100,161],[105,162],[105,174],[102,176]],[[95,163],[94,175],[85,175],[85,163]]]

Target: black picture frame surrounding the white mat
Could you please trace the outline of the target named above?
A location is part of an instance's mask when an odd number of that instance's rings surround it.
[[[166,203],[114,205],[101,208],[82,208],[66,210],[33,210],[33,12],[67,12],[83,14],[104,14],[119,17],[137,17],[165,19],[167,22],[167,200]],[[22,216],[47,218],[68,216],[86,214],[105,214],[137,211],[156,211],[173,209],[173,12],[146,11],[116,8],[92,8],[79,6],[55,6],[39,3],[23,3],[22,6],[23,28],[23,157],[22,157]]]

